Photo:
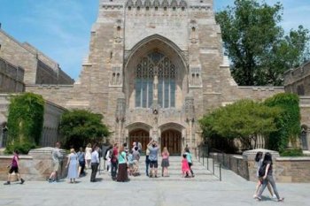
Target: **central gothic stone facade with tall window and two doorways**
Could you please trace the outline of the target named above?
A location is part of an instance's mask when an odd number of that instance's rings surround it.
[[[104,114],[112,141],[141,141],[145,149],[152,138],[180,154],[201,142],[205,112],[283,88],[236,85],[212,0],[101,0],[80,80],[27,91]]]

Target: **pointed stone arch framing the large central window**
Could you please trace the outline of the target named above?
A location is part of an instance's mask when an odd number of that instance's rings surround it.
[[[142,59],[150,56],[151,53],[159,53],[163,55],[163,57],[167,57],[171,65],[173,65],[175,70],[177,70],[174,86],[175,99],[184,99],[184,96],[188,91],[188,65],[182,50],[166,37],[159,34],[153,34],[136,43],[136,45],[128,51],[123,76],[125,85],[124,93],[126,95],[126,99],[128,101],[127,105],[129,108],[135,108],[136,106],[135,80],[137,65],[141,64]],[[174,107],[180,109],[182,107],[182,101],[178,101]]]

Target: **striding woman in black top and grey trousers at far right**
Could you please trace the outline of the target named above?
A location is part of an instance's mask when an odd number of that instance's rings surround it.
[[[265,175],[262,178],[263,179],[263,184],[260,187],[260,192],[259,195],[257,196],[258,200],[261,200],[261,194],[264,192],[264,189],[267,187],[267,184],[270,183],[271,187],[274,189],[274,193],[276,195],[276,198],[278,199],[278,202],[283,202],[284,198],[280,198],[280,195],[276,189],[275,186],[275,180],[274,177],[272,176],[272,172],[273,172],[273,165],[272,165],[272,156],[269,152],[267,152],[264,156],[264,161],[262,166],[266,166],[266,171],[265,171]]]

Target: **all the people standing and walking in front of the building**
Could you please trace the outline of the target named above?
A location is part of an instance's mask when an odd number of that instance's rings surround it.
[[[50,173],[49,182],[53,182],[57,179],[58,171],[62,158],[64,157],[60,153],[60,143],[56,143],[55,149],[52,150],[51,157],[53,162],[52,172]],[[128,181],[129,175],[139,175],[139,160],[140,153],[142,151],[141,143],[134,142],[133,148],[129,151],[127,144],[118,146],[117,143],[113,147],[107,149],[105,154],[105,160],[107,161],[107,170],[111,172],[113,180],[120,182]],[[158,153],[159,153],[159,144],[157,141],[150,141],[147,145],[146,154],[145,154],[145,165],[146,171],[145,174],[150,178],[158,178]],[[168,177],[168,167],[169,167],[169,152],[165,147],[161,153],[162,156],[162,177]],[[267,187],[270,195],[273,198],[277,198],[278,202],[283,202],[284,198],[280,197],[275,186],[275,179],[273,178],[273,161],[272,156],[269,152],[263,156],[262,152],[258,152],[255,156],[255,162],[257,166],[257,177],[258,182],[256,185],[255,193],[253,198],[261,200],[261,195]],[[66,163],[67,179],[70,179],[70,183],[75,183],[75,179],[79,178],[82,175],[85,175],[84,169],[91,168],[90,182],[96,182],[97,169],[100,164],[99,158],[99,147],[95,145],[91,148],[89,143],[85,149],[85,152],[80,148],[78,153],[75,153],[74,149],[70,149],[70,154]],[[190,154],[190,149],[186,147],[184,153],[182,154],[182,177],[190,178],[194,177],[194,172],[191,169],[192,166],[192,156]],[[19,152],[14,151],[12,157],[12,163],[8,165],[10,168],[8,180],[4,185],[11,184],[12,172],[17,174],[20,184],[25,182],[19,175]]]

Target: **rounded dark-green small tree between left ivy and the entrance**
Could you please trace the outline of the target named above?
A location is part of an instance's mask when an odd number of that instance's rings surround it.
[[[60,134],[65,139],[67,148],[74,146],[78,149],[87,143],[102,142],[110,132],[102,123],[103,116],[85,110],[66,111],[60,120]]]

